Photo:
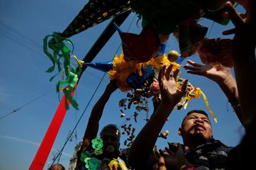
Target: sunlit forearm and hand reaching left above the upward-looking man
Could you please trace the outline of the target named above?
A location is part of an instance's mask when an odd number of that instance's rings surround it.
[[[237,84],[236,79],[234,79],[233,75],[231,74],[231,70],[228,67],[224,67],[221,64],[218,65],[201,65],[198,63],[193,62],[192,60],[187,60],[190,65],[185,65],[184,68],[187,73],[193,75],[200,75],[205,76],[208,79],[216,82],[228,98],[229,102],[234,108],[237,117],[244,125],[242,119],[242,112],[241,107],[239,107],[239,95],[237,91]]]

